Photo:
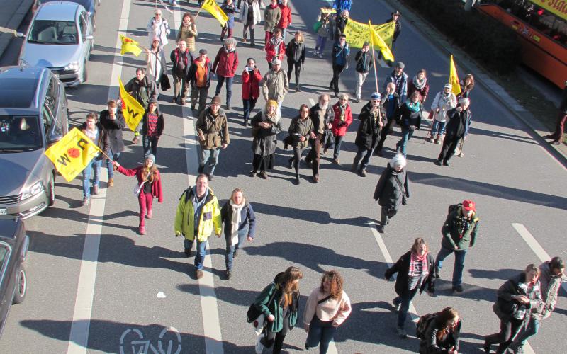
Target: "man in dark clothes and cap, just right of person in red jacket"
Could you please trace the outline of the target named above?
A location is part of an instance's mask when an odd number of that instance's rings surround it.
[[[382,127],[386,121],[386,113],[380,104],[380,93],[374,92],[359,114],[360,124],[354,144],[357,145],[357,155],[352,161],[352,171],[358,171],[361,177],[366,177],[366,166],[380,140]],[[364,156],[364,157],[363,157]],[[362,161],[361,161],[362,160]],[[360,167],[359,167],[360,163]]]

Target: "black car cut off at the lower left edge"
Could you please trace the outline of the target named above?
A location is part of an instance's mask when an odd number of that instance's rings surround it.
[[[0,334],[12,304],[20,304],[28,290],[26,268],[30,241],[21,219],[0,219]]]

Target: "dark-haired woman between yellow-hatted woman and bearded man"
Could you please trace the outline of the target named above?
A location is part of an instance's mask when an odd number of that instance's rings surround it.
[[[293,147],[293,157],[288,160],[288,164],[290,169],[292,167],[296,169],[296,181],[293,183],[299,184],[299,161],[301,161],[303,149],[308,146],[309,139],[315,138],[308,105],[303,104],[299,107],[299,115],[291,120],[288,133],[291,137],[291,147]]]

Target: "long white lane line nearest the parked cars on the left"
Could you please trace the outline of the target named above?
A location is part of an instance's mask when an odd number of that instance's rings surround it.
[[[116,35],[116,48],[120,48],[120,29],[124,34],[128,28],[128,16],[130,14],[130,0],[124,0],[122,11],[120,12],[119,31]],[[116,97],[118,92],[118,76],[122,73],[120,52],[115,55],[111,72],[111,85],[108,89],[108,98]],[[107,173],[101,171],[101,181],[106,185]],[[79,273],[79,283],[77,285],[77,297],[73,311],[73,321],[69,333],[69,343],[67,345],[68,354],[86,353],[86,346],[89,343],[89,328],[91,326],[91,313],[93,308],[94,287],[96,282],[96,268],[99,261],[99,246],[101,244],[101,232],[104,215],[104,205],[106,204],[106,188],[100,188],[99,195],[91,198],[91,208],[89,211],[89,222],[86,225],[84,238],[81,268]]]

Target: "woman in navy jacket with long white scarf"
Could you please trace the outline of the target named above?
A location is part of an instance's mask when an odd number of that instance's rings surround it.
[[[220,217],[223,219],[226,239],[226,278],[232,276],[232,263],[238,254],[238,250],[247,241],[254,241],[256,230],[256,216],[252,205],[245,198],[240,188],[232,190],[230,200],[220,209]]]

